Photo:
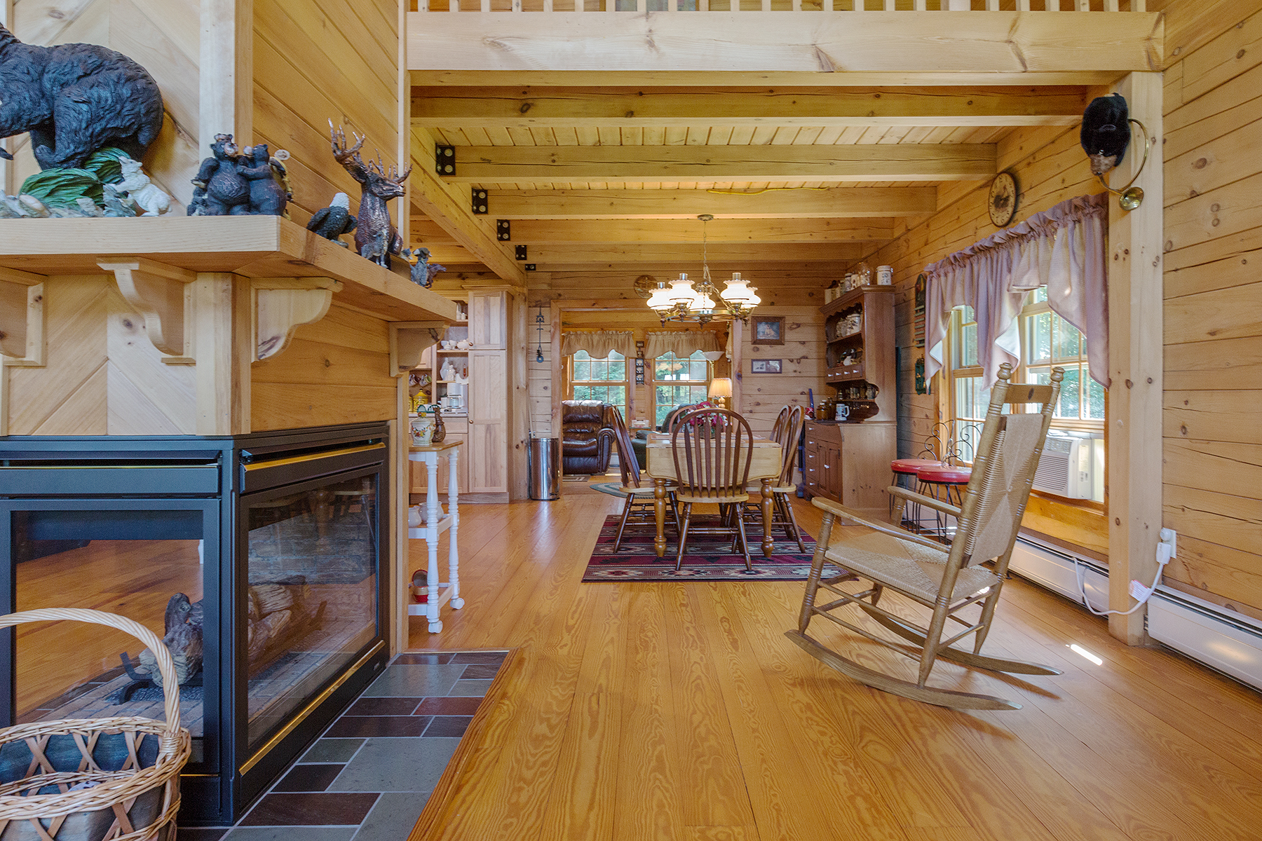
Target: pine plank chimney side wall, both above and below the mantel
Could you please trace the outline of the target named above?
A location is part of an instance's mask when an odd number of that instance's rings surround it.
[[[367,136],[360,154],[385,166],[399,149],[396,0],[268,0],[254,4],[254,140],[286,149],[305,224],[336,193],[358,208],[360,184],[333,160],[329,120]],[[400,200],[391,202],[398,218]],[[338,306],[298,328],[279,356],[251,367],[254,431],[395,417],[386,323]]]

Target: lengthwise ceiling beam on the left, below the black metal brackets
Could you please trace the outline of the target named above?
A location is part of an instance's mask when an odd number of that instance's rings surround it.
[[[434,140],[424,129],[413,130],[413,170],[409,180],[409,200],[430,221],[437,223],[481,262],[514,286],[525,286],[526,275],[506,247],[496,238],[493,222],[473,216],[467,192],[462,204],[457,197],[462,190],[443,183],[434,173]],[[440,261],[439,261],[440,262]]]

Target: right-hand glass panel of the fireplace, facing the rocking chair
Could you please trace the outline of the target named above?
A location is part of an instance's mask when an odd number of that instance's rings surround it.
[[[380,477],[351,470],[242,497],[247,754],[379,637]]]

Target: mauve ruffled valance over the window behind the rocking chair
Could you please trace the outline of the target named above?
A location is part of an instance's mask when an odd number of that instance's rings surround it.
[[[1068,199],[926,266],[925,377],[943,368],[950,311],[967,304],[977,315],[982,381],[993,386],[1001,364],[1020,362],[1017,315],[1026,294],[1046,285],[1051,310],[1083,334],[1092,380],[1107,388],[1107,193]]]

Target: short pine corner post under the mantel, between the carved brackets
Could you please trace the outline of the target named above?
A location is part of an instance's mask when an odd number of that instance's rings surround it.
[[[202,272],[192,287],[197,434],[242,435],[250,431],[250,359],[255,347],[250,281]]]

